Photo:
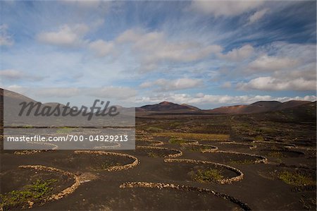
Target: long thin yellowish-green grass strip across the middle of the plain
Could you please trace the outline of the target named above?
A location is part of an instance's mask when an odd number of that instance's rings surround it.
[[[207,133],[156,133],[155,135],[169,136],[173,138],[182,138],[189,140],[229,140],[227,134],[207,134]]]

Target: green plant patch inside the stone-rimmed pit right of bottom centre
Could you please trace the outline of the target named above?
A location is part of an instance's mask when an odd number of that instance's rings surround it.
[[[201,183],[217,182],[218,180],[223,179],[222,172],[223,171],[221,171],[220,169],[199,169],[197,171],[197,174],[193,176],[193,179],[194,181],[199,181]]]

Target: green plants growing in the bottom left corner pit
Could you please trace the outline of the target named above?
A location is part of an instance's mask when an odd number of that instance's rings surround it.
[[[57,179],[40,180],[38,179],[32,185],[27,185],[19,191],[11,191],[0,194],[0,206],[4,210],[12,210],[16,208],[25,209],[30,206],[30,202],[44,200],[51,195],[53,185]]]

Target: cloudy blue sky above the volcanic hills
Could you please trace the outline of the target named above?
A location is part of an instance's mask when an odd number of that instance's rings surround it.
[[[47,102],[316,100],[316,1],[0,4],[1,88]]]

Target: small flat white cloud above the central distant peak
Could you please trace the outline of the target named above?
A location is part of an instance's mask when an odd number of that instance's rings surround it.
[[[189,88],[199,88],[203,85],[203,80],[195,78],[178,78],[175,80],[158,79],[152,82],[144,82],[140,88],[156,88],[156,91],[164,92],[170,90],[186,90]]]

